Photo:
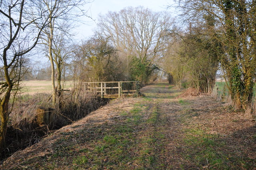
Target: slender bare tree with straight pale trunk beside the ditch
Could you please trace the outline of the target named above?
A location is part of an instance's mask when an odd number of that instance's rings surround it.
[[[81,7],[85,4],[89,3],[89,1],[84,0],[44,0],[43,3],[47,6],[47,13],[50,14],[48,27],[43,30],[44,34],[42,35],[42,39],[44,44],[48,48],[47,56],[50,59],[51,67],[52,67],[52,104],[56,104],[56,88],[55,88],[55,69],[54,69],[54,60],[53,56],[53,47],[54,40],[58,37],[56,34],[56,30],[62,30],[62,34],[65,32],[69,34],[68,30],[70,30],[71,24],[62,24],[64,20],[66,22],[77,21],[81,16],[86,15],[86,11],[81,10]],[[75,24],[74,24],[75,25]],[[74,28],[74,25],[72,28]],[[56,41],[57,42],[57,41]],[[62,57],[62,56],[59,56]],[[60,70],[59,70],[60,71]],[[59,86],[60,87],[60,86]]]

